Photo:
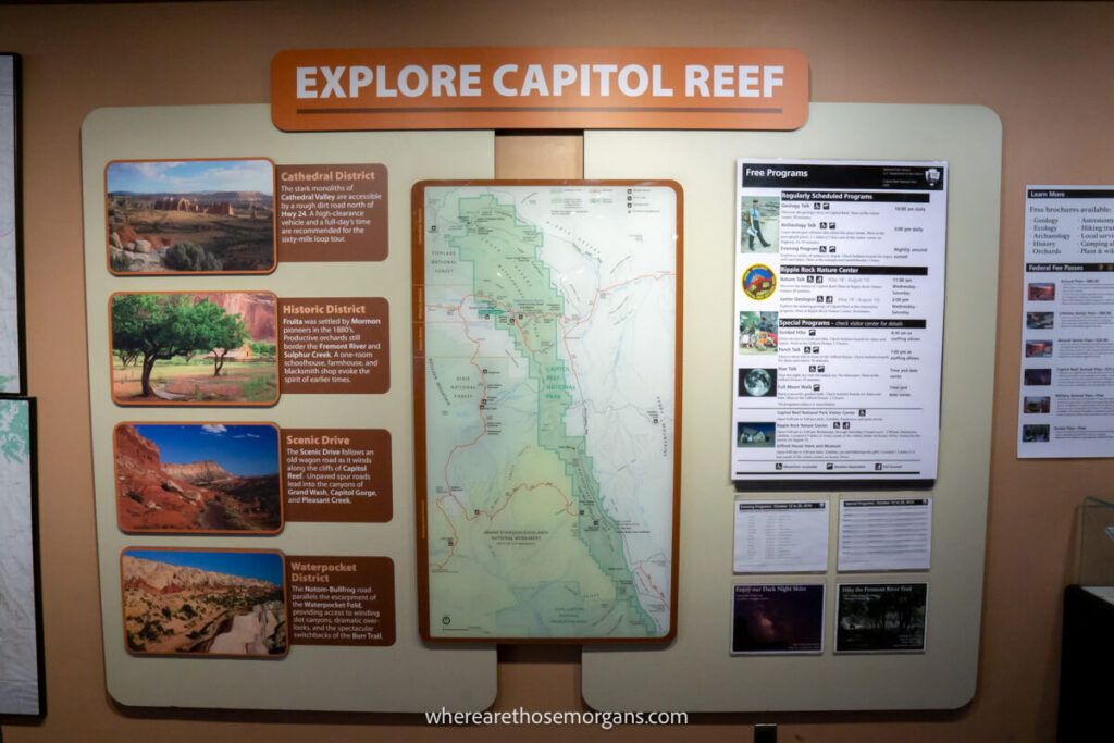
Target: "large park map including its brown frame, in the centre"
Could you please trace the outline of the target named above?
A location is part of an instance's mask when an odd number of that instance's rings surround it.
[[[427,639],[676,632],[682,192],[413,189]]]

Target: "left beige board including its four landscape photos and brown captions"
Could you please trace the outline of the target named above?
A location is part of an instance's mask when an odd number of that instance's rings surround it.
[[[409,188],[490,177],[492,134],[121,108],[81,150],[108,693],[488,706],[494,649],[418,635]]]

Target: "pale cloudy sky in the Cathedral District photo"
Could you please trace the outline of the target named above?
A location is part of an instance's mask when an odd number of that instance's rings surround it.
[[[274,193],[270,160],[157,160],[110,163],[108,193],[190,194],[206,190]]]

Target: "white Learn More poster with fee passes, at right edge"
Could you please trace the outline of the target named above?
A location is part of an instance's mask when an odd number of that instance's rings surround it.
[[[1029,186],[1017,456],[1114,457],[1114,186]]]

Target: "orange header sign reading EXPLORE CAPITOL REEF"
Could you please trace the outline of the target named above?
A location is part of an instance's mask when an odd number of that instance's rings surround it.
[[[300,49],[271,62],[285,131],[795,129],[809,62],[792,49]]]

